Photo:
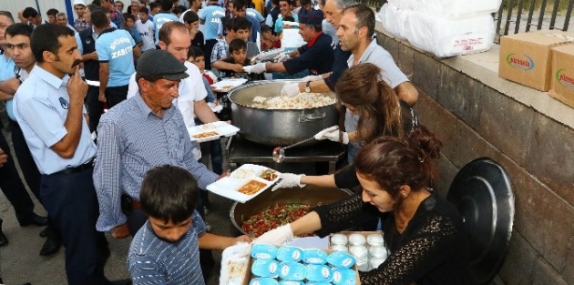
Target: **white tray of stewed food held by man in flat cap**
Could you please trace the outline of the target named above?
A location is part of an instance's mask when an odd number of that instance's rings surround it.
[[[244,203],[257,197],[279,180],[279,172],[254,164],[244,164],[231,175],[208,185],[211,192]]]

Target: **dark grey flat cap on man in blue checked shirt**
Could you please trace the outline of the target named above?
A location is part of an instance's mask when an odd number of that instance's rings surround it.
[[[175,56],[162,49],[152,49],[143,53],[138,59],[136,72],[144,78],[162,78],[180,80],[187,78],[188,68]]]

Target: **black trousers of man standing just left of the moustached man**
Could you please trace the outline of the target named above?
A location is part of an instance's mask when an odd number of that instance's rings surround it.
[[[34,158],[32,158],[32,153],[30,153],[30,149],[26,144],[22,128],[20,128],[20,125],[15,121],[12,121],[12,145],[14,146],[15,157],[18,158],[18,163],[20,163],[20,169],[22,170],[26,184],[32,190],[32,193],[34,193],[38,201],[42,203],[42,199],[40,198],[40,171],[38,171],[36,162]],[[48,215],[47,219],[46,234],[51,238],[60,238],[60,233],[56,229],[56,224],[50,215]]]

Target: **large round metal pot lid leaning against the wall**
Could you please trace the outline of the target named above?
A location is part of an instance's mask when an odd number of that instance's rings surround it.
[[[470,280],[488,284],[504,262],[514,219],[507,173],[490,158],[477,158],[456,174],[446,199],[462,215],[469,239]]]

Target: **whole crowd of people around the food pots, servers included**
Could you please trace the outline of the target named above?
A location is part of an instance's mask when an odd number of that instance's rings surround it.
[[[15,148],[12,154],[0,132],[0,188],[21,226],[46,226],[40,254],[64,246],[68,283],[203,284],[214,265],[210,250],[253,241],[210,233],[206,187],[229,171],[220,142],[205,143],[210,169],[187,129],[220,120],[213,83],[271,73],[302,77],[283,96],[335,92],[340,126],[315,137],[347,145],[350,165],[327,176],[283,173],[275,188],[363,190],[254,241],[281,244],[293,234],[384,221],[391,258],[362,273],[362,283],[460,284],[467,262],[461,219],[432,188],[430,158],[440,142],[418,123],[416,88],[377,44],[373,10],[354,0],[182,2],[74,0],[73,25],[56,9],[46,21],[26,7],[20,23],[0,11],[0,100]],[[304,44],[286,46],[287,29],[297,29]],[[251,60],[272,48],[283,51]],[[25,184],[47,217],[34,212]],[[1,226],[0,219],[4,246]],[[131,279],[104,275],[105,232],[133,237]],[[446,248],[456,259],[429,258]]]

